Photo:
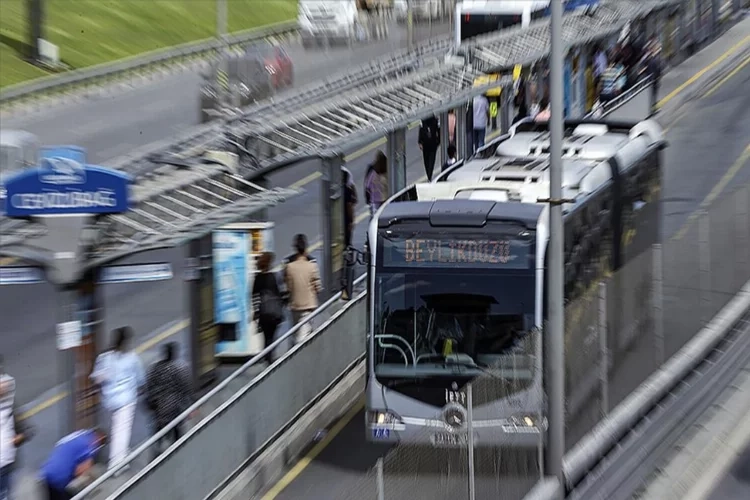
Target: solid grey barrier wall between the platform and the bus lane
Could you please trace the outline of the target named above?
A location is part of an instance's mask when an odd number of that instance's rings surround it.
[[[363,282],[364,277],[357,280],[358,285]],[[182,500],[211,495],[248,457],[265,450],[290,422],[335,386],[342,374],[359,365],[365,352],[365,297],[366,292],[359,291],[315,332],[107,498]],[[84,497],[86,492],[75,499]]]

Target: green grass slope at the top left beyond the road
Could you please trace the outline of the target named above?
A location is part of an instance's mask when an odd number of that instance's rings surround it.
[[[226,0],[230,31],[288,21],[296,0]],[[44,0],[45,37],[60,59],[85,68],[216,32],[216,0]],[[0,0],[0,87],[44,71],[24,62],[26,0]]]

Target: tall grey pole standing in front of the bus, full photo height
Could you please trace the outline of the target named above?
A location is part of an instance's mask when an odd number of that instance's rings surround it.
[[[563,310],[563,222],[562,222],[562,140],[563,140],[563,46],[562,0],[550,2],[550,256],[549,256],[549,335],[547,335],[547,394],[549,433],[547,473],[563,483],[562,458],[565,452],[565,342]]]

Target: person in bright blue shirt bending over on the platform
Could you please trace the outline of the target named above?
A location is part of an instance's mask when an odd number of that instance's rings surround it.
[[[49,500],[73,498],[66,488],[94,466],[96,453],[107,442],[107,435],[99,429],[76,431],[55,444],[42,465],[41,479]]]

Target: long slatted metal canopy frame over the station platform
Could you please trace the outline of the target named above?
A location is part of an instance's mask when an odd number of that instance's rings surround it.
[[[617,34],[630,21],[677,6],[679,0],[607,2],[600,4],[594,15],[566,16],[563,36],[569,48],[589,44]],[[222,165],[196,159],[197,152],[223,149],[225,129],[234,135],[250,136],[252,152],[261,166],[256,175],[268,173],[280,163],[288,165],[310,156],[345,151],[416,119],[461,106],[491,87],[510,85],[510,77],[476,87],[474,81],[488,68],[510,68],[546,58],[549,43],[548,21],[542,20],[526,29],[504,31],[469,44],[472,66],[437,59],[425,65],[425,55],[447,52],[446,37],[425,44],[416,54],[401,52],[365,65],[351,78],[343,75],[302,92],[294,91],[297,98],[282,99],[286,95],[282,94],[279,101],[253,106],[248,110],[252,120],[208,124],[171,144],[151,148],[151,154],[116,162],[113,167],[135,179],[136,204],[126,214],[99,219],[102,238],[92,261],[180,244],[298,193],[265,190],[247,180],[252,175],[242,176]],[[365,81],[374,83],[361,85]],[[331,92],[334,97],[323,98]],[[307,106],[300,110],[301,103]],[[0,218],[0,245],[22,244],[38,230],[33,223]]]

